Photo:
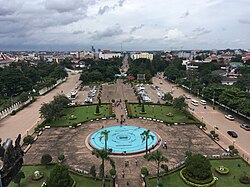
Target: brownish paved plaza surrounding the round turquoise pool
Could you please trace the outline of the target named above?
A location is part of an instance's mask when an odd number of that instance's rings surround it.
[[[150,129],[161,137],[162,142],[167,142],[167,149],[163,149],[161,145],[159,150],[169,159],[167,163],[169,168],[183,161],[187,150],[205,155],[223,153],[223,150],[195,125],[167,126],[166,124],[140,119],[128,119],[126,124]],[[86,138],[102,127],[113,125],[118,125],[116,120],[88,122],[76,129],[46,129],[25,155],[25,164],[40,163],[40,159],[45,153],[51,154],[53,161],[57,162],[57,156],[64,153],[66,157],[64,164],[71,169],[77,168],[89,171],[93,165],[99,168],[101,160],[91,154],[89,146],[86,145]],[[112,156],[116,164],[118,181],[138,182],[142,166],[146,166],[150,174],[156,173],[155,163],[147,162],[143,155]],[[125,167],[125,161],[129,162],[128,167]],[[106,166],[106,174],[108,174],[111,167],[109,163],[106,163]],[[125,171],[124,179],[121,175],[122,170]],[[134,186],[137,185],[134,184]]]

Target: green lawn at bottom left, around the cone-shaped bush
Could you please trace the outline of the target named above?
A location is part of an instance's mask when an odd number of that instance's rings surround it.
[[[47,176],[49,176],[50,171],[52,170],[53,166],[48,166],[45,168],[44,166],[23,166],[22,171],[25,173],[25,179],[21,181],[21,187],[41,187],[42,183],[46,181]],[[31,179],[31,175],[34,171],[39,170],[45,174],[44,178],[39,181],[33,181]],[[76,181],[76,187],[101,187],[102,183],[101,180],[93,180],[90,177],[84,177],[77,174],[70,174],[72,178]],[[109,186],[109,182],[106,182],[106,186]],[[9,187],[17,187],[17,184],[11,182]]]

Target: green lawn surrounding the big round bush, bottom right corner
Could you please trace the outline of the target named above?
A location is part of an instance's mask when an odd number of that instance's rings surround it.
[[[213,187],[247,187],[247,184],[241,184],[239,177],[243,172],[250,174],[250,166],[242,159],[224,159],[224,160],[211,160],[213,173],[219,178],[217,184]],[[240,167],[238,166],[240,165]],[[214,168],[217,166],[225,166],[229,168],[228,175],[220,175],[215,172]],[[235,177],[234,177],[235,176]],[[179,171],[171,175],[164,176],[161,179],[163,187],[188,187],[180,178]],[[156,179],[149,180],[149,187],[156,187]]]

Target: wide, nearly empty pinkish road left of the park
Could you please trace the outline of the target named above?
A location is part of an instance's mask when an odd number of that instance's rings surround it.
[[[41,120],[39,113],[41,105],[43,103],[48,103],[55,95],[60,94],[62,91],[65,95],[70,95],[70,92],[75,88],[79,77],[79,74],[69,75],[66,82],[57,86],[46,95],[37,97],[37,100],[34,103],[19,111],[15,116],[8,116],[1,120],[0,138],[3,141],[5,141],[6,138],[14,140],[18,134],[25,136],[27,133],[33,133],[34,127]]]

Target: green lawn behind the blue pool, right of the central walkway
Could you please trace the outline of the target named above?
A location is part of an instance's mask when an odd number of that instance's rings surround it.
[[[133,117],[155,118],[167,123],[194,123],[195,120],[191,114],[186,115],[184,112],[174,109],[172,106],[145,104],[146,114],[141,114],[142,107],[139,104],[129,104]],[[168,116],[167,114],[173,114]]]

